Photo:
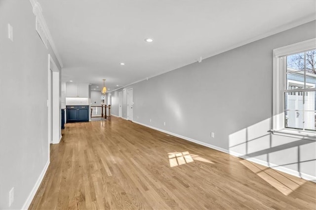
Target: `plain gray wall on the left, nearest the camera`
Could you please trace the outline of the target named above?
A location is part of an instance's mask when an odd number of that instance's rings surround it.
[[[35,30],[30,1],[0,1],[0,43],[0,209],[21,209],[49,160],[48,53],[60,65]]]

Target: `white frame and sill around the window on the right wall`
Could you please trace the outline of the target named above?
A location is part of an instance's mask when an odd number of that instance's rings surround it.
[[[273,116],[272,132],[276,135],[295,137],[300,139],[316,140],[316,132],[285,128],[284,125],[284,90],[286,72],[284,72],[283,57],[316,48],[316,38],[295,44],[287,45],[273,50]]]

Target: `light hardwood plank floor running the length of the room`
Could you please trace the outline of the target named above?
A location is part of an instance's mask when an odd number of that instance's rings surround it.
[[[316,183],[112,117],[68,123],[30,209],[314,209]]]

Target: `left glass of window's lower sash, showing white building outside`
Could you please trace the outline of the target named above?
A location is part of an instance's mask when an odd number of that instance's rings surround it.
[[[284,94],[285,127],[303,129],[304,92],[289,92]]]

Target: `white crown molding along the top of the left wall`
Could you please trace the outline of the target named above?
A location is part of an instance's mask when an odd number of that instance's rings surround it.
[[[48,42],[49,42],[49,44],[50,44],[50,46],[51,46],[51,48],[52,48],[52,50],[53,50],[53,52],[54,52],[54,54],[56,56],[58,62],[59,62],[59,65],[60,65],[61,68],[63,68],[64,67],[63,66],[63,62],[62,62],[62,60],[61,60],[61,58],[59,56],[59,53],[57,51],[57,48],[56,48],[55,43],[53,41],[53,38],[51,37],[51,34],[50,34],[49,30],[48,30],[48,27],[47,27],[47,24],[45,22],[45,19],[44,19],[43,15],[42,15],[42,8],[40,6],[40,3],[37,0],[30,0],[30,2],[31,2],[32,7],[33,7],[33,13],[38,18],[39,22],[41,23],[43,31],[44,31],[44,33],[45,33],[45,35],[47,37],[47,40],[48,40]]]

